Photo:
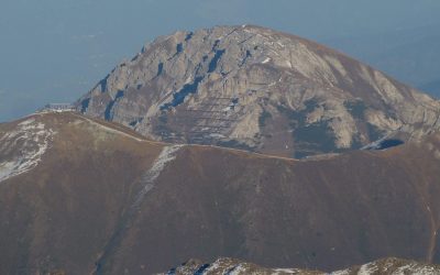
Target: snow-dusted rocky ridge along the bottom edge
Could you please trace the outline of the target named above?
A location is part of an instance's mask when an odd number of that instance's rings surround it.
[[[233,258],[219,258],[213,263],[206,264],[199,260],[190,260],[178,267],[169,270],[166,274],[175,275],[323,275],[328,274],[319,271],[306,271],[298,268],[266,268],[252,263],[245,263]],[[361,266],[353,266],[342,271],[336,271],[332,275],[433,275],[440,274],[440,266],[427,263],[400,258],[383,258]]]

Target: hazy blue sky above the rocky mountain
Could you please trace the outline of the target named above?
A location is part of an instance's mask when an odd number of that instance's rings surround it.
[[[0,121],[74,101],[157,35],[244,23],[319,42],[405,33],[440,26],[440,0],[0,0]]]

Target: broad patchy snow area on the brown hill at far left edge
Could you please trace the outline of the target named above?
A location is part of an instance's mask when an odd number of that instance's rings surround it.
[[[0,182],[26,173],[38,165],[55,132],[34,118],[22,121],[0,139]]]

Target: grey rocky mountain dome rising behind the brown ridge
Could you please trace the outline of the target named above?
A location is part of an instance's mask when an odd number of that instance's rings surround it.
[[[77,109],[175,143],[302,157],[438,129],[440,103],[314,42],[258,26],[177,32],[117,66]]]

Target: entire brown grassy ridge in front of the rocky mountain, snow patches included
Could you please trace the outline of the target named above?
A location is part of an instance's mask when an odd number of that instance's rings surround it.
[[[438,134],[295,161],[35,114],[0,124],[0,274],[151,274],[219,256],[322,271],[439,263],[439,165]]]

